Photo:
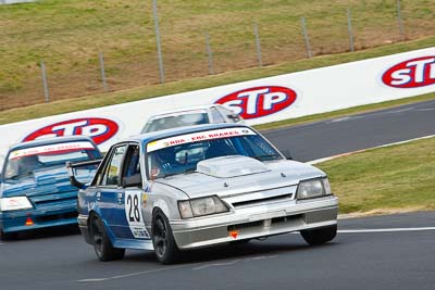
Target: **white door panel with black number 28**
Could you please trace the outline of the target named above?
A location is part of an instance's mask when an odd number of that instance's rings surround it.
[[[125,192],[125,217],[132,235],[136,239],[149,239],[150,236],[145,227],[142,211],[141,211],[141,194],[142,191],[126,191]]]

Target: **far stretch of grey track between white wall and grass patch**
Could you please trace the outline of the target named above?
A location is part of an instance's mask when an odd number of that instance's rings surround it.
[[[304,162],[428,135],[435,135],[435,100],[264,133]]]

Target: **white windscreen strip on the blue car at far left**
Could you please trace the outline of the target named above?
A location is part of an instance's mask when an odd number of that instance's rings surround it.
[[[94,146],[87,141],[65,142],[65,143],[18,149],[12,151],[11,154],[9,155],[9,159],[13,160],[13,159],[38,155],[38,154],[53,154],[53,153],[72,152],[77,150],[94,150],[94,149],[95,149]]]

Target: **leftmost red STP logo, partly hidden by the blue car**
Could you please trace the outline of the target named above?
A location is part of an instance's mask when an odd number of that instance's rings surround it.
[[[42,137],[85,135],[92,138],[96,144],[100,144],[112,138],[119,128],[115,122],[107,118],[75,118],[40,128],[28,135],[23,141],[32,141]]]

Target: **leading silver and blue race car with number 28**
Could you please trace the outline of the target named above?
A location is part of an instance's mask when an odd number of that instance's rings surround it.
[[[132,137],[109,150],[80,187],[78,222],[101,261],[125,249],[179,251],[300,231],[332,240],[338,200],[326,174],[287,160],[254,129],[214,124]]]

